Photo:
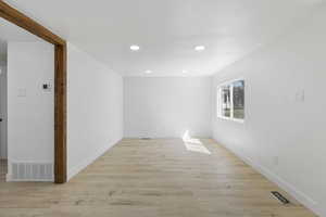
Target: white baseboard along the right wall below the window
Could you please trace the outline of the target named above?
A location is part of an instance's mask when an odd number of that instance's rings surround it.
[[[215,139],[214,139],[215,140]],[[215,140],[216,141],[216,140]],[[314,200],[312,200],[310,196],[304,194],[302,191],[298,190],[293,184],[285,181],[279,176],[264,167],[263,165],[260,165],[255,163],[251,157],[246,156],[243,153],[239,153],[235,149],[231,149],[229,146],[226,146],[223,143],[217,142],[218,144],[222,144],[224,148],[233,152],[236,156],[241,158],[244,163],[250,165],[252,168],[258,170],[260,174],[262,174],[264,177],[266,177],[272,182],[276,183],[280,189],[288,192],[291,196],[293,196],[298,202],[300,202],[305,207],[310,208],[312,212],[314,212],[318,216],[326,216],[326,210],[318,205],[318,203]]]

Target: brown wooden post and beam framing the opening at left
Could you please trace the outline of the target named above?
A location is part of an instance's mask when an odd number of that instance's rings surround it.
[[[67,44],[64,39],[53,34],[42,25],[38,24],[24,13],[0,1],[0,17],[9,23],[25,29],[32,35],[53,46],[54,69],[54,182],[65,183],[67,181],[67,157],[66,157],[66,74],[67,74]],[[0,26],[1,27],[1,26]],[[2,33],[1,33],[2,36]],[[43,86],[45,87],[45,86]],[[24,93],[24,91],[23,91]],[[35,151],[37,152],[37,150]],[[16,165],[18,166],[18,165]]]

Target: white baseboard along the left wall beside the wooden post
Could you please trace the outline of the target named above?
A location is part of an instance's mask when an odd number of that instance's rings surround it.
[[[74,166],[72,169],[68,168],[67,181],[71,180],[77,174],[79,174],[88,165],[92,164],[96,159],[98,159],[100,156],[102,156],[105,152],[108,152],[112,146],[114,146],[121,140],[122,140],[122,138],[118,139],[116,142],[113,142],[112,144],[110,144],[108,146],[104,146],[103,149],[98,150],[93,155],[85,158],[80,164],[78,164],[77,166]]]

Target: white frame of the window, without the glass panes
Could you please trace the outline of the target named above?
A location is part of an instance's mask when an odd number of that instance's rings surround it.
[[[244,98],[244,107],[243,107],[244,118],[241,119],[241,118],[235,118],[234,117],[234,82],[240,81],[240,80],[244,81],[244,97],[246,97],[246,80],[244,80],[244,78],[238,78],[238,79],[229,80],[229,81],[220,84],[217,86],[217,91],[216,91],[216,93],[217,93],[217,95],[216,95],[216,115],[217,115],[217,118],[226,119],[226,120],[233,120],[233,122],[237,122],[237,123],[244,123],[244,119],[246,119],[246,98]],[[225,87],[225,86],[230,87],[230,115],[229,115],[229,117],[226,117],[226,116],[222,115],[221,91],[222,91],[222,87]]]

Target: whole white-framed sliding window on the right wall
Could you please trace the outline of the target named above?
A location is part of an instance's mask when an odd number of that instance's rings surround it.
[[[217,117],[243,122],[244,80],[235,80],[217,88]]]

